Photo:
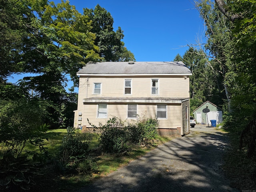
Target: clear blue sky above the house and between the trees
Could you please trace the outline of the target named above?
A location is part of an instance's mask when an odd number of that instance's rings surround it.
[[[61,0],[54,0],[55,4]],[[187,44],[204,39],[204,25],[193,0],[70,0],[76,10],[105,8],[114,18],[114,30],[124,31],[123,42],[136,61],[173,61]],[[16,83],[24,75],[14,75]],[[68,82],[72,86],[72,82]]]

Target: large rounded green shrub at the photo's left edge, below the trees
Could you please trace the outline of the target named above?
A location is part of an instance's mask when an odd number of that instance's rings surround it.
[[[45,116],[44,104],[36,99],[0,101],[0,155],[12,153],[21,156],[26,144],[39,146],[48,125],[42,124]],[[47,138],[46,138],[47,139]]]

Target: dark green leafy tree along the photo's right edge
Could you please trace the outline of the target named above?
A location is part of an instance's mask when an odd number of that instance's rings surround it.
[[[241,0],[224,2],[216,0],[219,10],[232,22],[234,58],[237,63],[232,90],[232,120],[239,122],[242,134],[240,149],[245,148],[248,156],[256,155],[256,1]],[[227,123],[228,124],[228,123]],[[255,171],[254,171],[255,174]]]

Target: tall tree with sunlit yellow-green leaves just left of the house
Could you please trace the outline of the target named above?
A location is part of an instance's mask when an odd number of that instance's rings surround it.
[[[25,77],[20,86],[32,90],[31,96],[50,102],[50,116],[46,122],[57,128],[64,125],[63,112],[70,105],[65,90],[67,76],[76,80],[76,72],[82,66],[100,57],[96,53],[98,47],[93,43],[95,34],[90,32],[88,17],[78,13],[68,1],[56,6],[47,4],[39,10],[38,20],[34,23],[36,32],[30,34],[35,39],[32,41],[34,46],[26,50],[22,62],[26,64],[25,72],[40,75]],[[40,62],[31,62],[34,61],[32,57]]]

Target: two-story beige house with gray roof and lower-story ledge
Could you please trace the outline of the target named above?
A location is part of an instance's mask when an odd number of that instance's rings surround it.
[[[146,114],[157,118],[162,135],[189,133],[192,73],[184,63],[90,62],[77,75],[80,78],[74,127],[87,129],[88,120],[97,126],[113,116],[132,123]]]

